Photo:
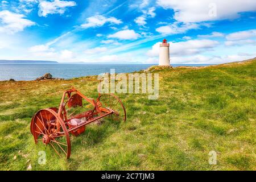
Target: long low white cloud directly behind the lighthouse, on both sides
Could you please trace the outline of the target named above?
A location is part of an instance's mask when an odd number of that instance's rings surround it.
[[[159,55],[160,42],[155,43],[154,46],[147,52],[149,57],[156,57]],[[214,40],[188,40],[184,42],[170,43],[171,56],[188,56],[196,55],[201,52],[211,51],[218,45]]]

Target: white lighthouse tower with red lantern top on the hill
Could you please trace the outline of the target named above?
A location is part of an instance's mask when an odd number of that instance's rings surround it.
[[[163,39],[163,43],[160,44],[159,52],[159,66],[169,66],[170,67],[170,44],[167,43],[166,39]]]

